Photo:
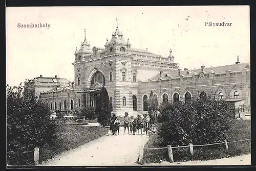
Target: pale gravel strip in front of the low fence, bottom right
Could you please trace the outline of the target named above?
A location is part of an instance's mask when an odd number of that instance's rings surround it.
[[[151,163],[146,165],[250,165],[251,155],[243,155],[236,157],[229,157],[223,159],[207,160],[207,161],[186,161],[169,163],[163,161],[161,163]]]

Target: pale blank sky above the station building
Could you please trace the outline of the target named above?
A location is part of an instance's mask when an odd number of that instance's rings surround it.
[[[74,80],[74,52],[84,40],[103,47],[116,30],[132,47],[168,56],[180,68],[250,62],[249,6],[7,7],[6,82],[54,77]],[[209,27],[205,22],[232,23]],[[48,24],[47,28],[17,25]]]

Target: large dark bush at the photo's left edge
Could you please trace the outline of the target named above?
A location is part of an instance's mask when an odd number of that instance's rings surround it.
[[[7,85],[7,163],[33,165],[33,150],[55,139],[50,110],[23,86]],[[24,153],[32,151],[31,153]]]

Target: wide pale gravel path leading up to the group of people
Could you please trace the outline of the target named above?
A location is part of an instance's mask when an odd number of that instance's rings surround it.
[[[107,165],[139,165],[135,163],[139,157],[139,146],[145,145],[149,139],[146,135],[120,134],[103,136],[76,149],[64,152],[43,166],[107,166]]]

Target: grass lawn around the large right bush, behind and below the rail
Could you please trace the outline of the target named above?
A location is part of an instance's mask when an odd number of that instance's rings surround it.
[[[157,128],[160,124],[156,124]],[[231,138],[228,141],[236,141],[251,138],[251,121],[236,120],[236,124],[230,130]],[[164,147],[167,146],[162,138],[153,134],[147,141],[144,147]],[[190,154],[189,148],[173,149],[174,161],[189,161],[189,160],[211,160],[224,157],[239,156],[251,153],[251,142],[241,141],[228,143],[228,150],[225,144],[209,145],[194,147],[194,155]],[[144,149],[143,163],[160,163],[168,161],[167,149]]]

